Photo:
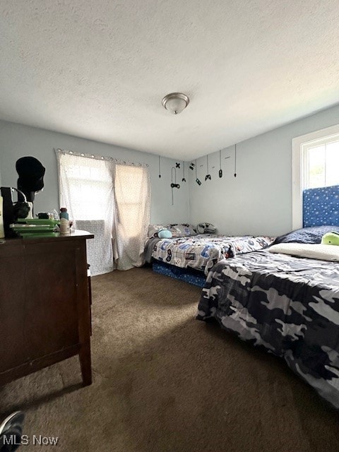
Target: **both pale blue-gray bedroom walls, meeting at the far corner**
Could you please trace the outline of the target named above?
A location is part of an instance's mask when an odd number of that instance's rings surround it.
[[[53,148],[117,157],[150,165],[152,181],[151,222],[211,222],[225,234],[282,234],[292,229],[292,138],[339,123],[339,105],[237,144],[237,177],[234,147],[222,150],[223,177],[219,179],[219,153],[209,155],[211,181],[206,176],[206,157],[197,161],[198,177],[186,169],[188,183],[177,182],[171,199],[171,167],[162,158],[158,178],[157,156],[83,138],[0,121],[0,171],[3,185],[16,186],[15,163],[23,155],[37,157],[46,167],[45,189],[37,194],[35,212],[59,206],[57,160]],[[224,157],[230,155],[230,159]],[[200,167],[203,165],[203,167]],[[214,167],[214,168],[213,168]]]

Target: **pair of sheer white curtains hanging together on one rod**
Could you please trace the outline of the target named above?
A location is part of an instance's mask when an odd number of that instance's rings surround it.
[[[148,167],[71,151],[56,152],[60,206],[67,208],[76,227],[95,233],[94,242],[88,245],[91,273],[107,273],[114,266],[128,270],[143,265],[150,222]]]

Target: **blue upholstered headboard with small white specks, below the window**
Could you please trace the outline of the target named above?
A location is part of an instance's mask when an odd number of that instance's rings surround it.
[[[339,185],[303,191],[302,223],[303,227],[339,225]]]

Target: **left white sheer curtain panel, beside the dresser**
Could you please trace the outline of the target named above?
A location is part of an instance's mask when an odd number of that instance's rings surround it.
[[[95,234],[88,241],[92,275],[113,270],[112,229],[114,189],[109,162],[94,157],[57,152],[60,206],[66,207],[78,229]]]

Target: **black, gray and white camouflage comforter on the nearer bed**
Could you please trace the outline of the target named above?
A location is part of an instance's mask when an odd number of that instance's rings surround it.
[[[339,408],[339,263],[256,251],[208,273],[199,320],[283,357]]]

